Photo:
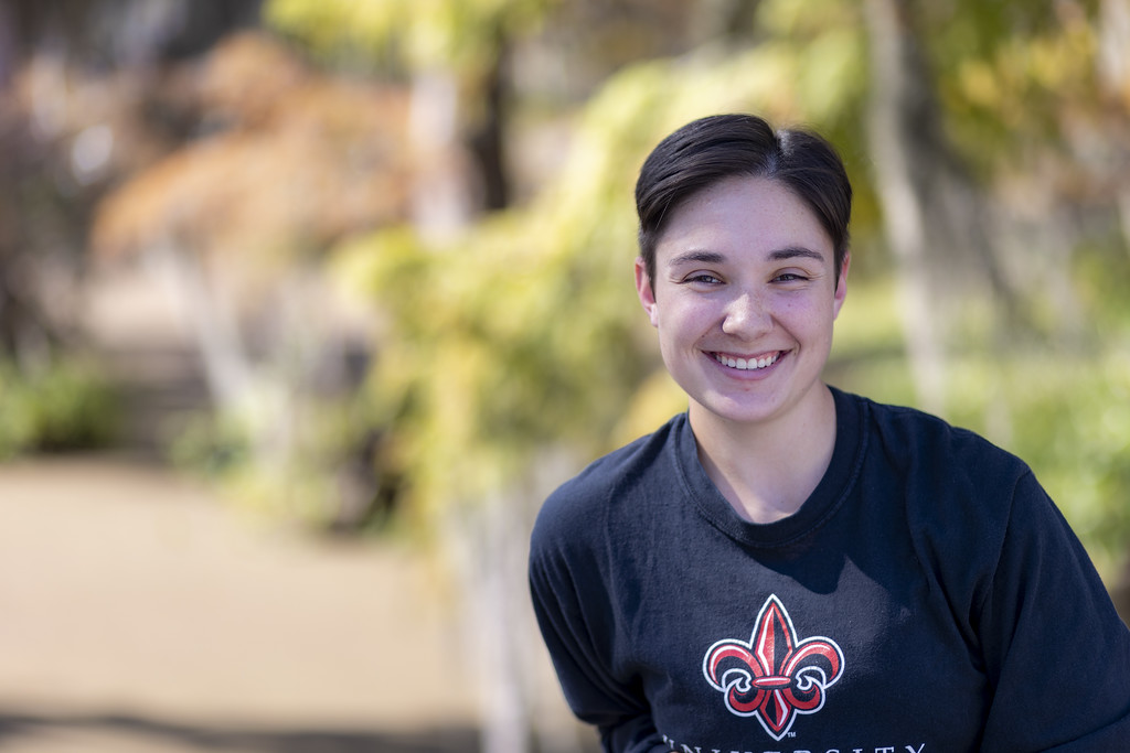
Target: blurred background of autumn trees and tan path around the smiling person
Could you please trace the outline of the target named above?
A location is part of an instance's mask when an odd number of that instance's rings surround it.
[[[852,175],[827,379],[1130,614],[1130,0],[0,0],[0,750],[592,750],[527,537],[685,408],[632,190],[731,111]]]

